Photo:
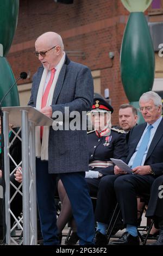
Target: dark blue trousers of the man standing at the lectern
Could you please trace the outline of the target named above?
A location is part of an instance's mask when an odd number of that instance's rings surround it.
[[[95,220],[93,208],[85,182],[85,173],[59,174],[68,197],[77,224],[80,245],[93,243],[95,236]],[[37,202],[41,221],[44,245],[58,245],[58,230],[55,210],[56,174],[48,174],[48,162],[36,159]]]

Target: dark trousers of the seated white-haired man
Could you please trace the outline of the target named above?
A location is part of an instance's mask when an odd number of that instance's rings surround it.
[[[96,221],[109,224],[118,202],[123,223],[137,226],[137,196],[149,193],[152,175],[108,175],[101,179],[95,211]]]

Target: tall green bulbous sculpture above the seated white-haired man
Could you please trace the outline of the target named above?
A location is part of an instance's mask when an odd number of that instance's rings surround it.
[[[154,82],[154,49],[143,14],[152,0],[121,1],[130,11],[121,47],[122,84],[130,103],[139,107],[140,96],[152,90]]]

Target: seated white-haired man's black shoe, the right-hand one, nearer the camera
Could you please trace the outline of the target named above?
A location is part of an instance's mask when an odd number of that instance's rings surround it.
[[[139,243],[139,236],[124,232],[118,240],[111,241],[109,245],[139,245]]]

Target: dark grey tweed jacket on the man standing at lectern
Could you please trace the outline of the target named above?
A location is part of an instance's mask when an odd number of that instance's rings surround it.
[[[33,77],[32,92],[28,105],[35,107],[37,92],[43,72],[41,66]],[[74,63],[66,56],[61,68],[52,100],[52,111],[61,111],[65,107],[70,112],[90,111],[93,102],[93,79],[90,69]],[[82,121],[82,119],[81,119]],[[83,172],[88,170],[89,153],[86,130],[49,131],[49,173]]]

